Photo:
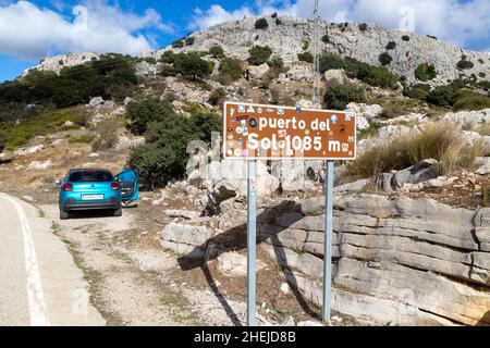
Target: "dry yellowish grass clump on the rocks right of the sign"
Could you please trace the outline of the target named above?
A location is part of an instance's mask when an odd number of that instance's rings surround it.
[[[388,145],[366,149],[347,166],[347,173],[363,177],[377,176],[426,159],[438,160],[444,173],[457,166],[471,166],[479,150],[479,146],[464,147],[457,125],[428,123],[420,134],[400,136]]]

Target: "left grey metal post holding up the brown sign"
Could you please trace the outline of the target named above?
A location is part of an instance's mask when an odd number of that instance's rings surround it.
[[[256,191],[256,161],[247,161],[247,325],[256,326],[256,248],[257,248],[257,191]]]

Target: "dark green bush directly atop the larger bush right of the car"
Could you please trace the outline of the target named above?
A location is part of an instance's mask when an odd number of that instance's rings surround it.
[[[143,135],[150,122],[171,124],[176,121],[177,115],[170,102],[151,98],[140,102],[130,102],[126,107],[126,117],[130,121],[131,132]]]

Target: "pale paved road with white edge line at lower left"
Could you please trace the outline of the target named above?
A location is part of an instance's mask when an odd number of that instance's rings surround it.
[[[103,325],[52,221],[0,194],[0,325]]]

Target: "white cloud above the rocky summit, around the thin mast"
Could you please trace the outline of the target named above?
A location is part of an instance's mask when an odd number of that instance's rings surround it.
[[[314,0],[257,0],[255,9],[225,11],[215,4],[208,10],[196,9],[193,23],[199,28],[241,17],[237,11],[252,14],[278,12],[282,15],[310,17]],[[414,16],[416,33],[434,35],[445,41],[465,46],[470,41],[490,41],[490,1],[488,0],[323,0],[320,15],[331,22],[368,22],[388,28],[405,28],[406,10]],[[401,11],[402,10],[402,11]]]

